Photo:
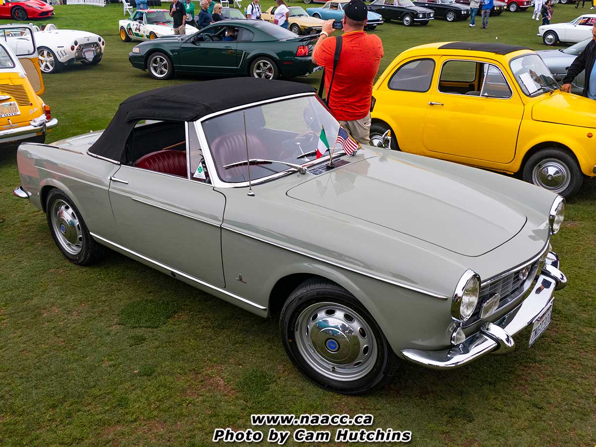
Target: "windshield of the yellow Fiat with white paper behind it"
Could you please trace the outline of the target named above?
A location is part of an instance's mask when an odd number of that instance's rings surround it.
[[[527,54],[510,62],[511,71],[525,95],[533,97],[560,88],[538,54]]]

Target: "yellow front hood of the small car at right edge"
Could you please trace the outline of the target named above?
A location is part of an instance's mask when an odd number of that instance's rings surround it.
[[[596,128],[594,100],[563,92],[544,94],[532,107],[532,118],[547,123]]]

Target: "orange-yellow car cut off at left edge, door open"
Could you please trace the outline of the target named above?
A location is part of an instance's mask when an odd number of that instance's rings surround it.
[[[38,96],[43,92],[32,28],[0,26],[0,145],[44,142],[46,131],[58,125]]]

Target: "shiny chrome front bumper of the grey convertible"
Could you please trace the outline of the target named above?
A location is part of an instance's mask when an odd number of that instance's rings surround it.
[[[450,349],[426,351],[403,349],[403,356],[411,362],[435,370],[457,368],[489,352],[505,354],[515,347],[513,336],[533,323],[550,305],[552,294],[567,285],[567,278],[558,269],[557,254],[549,252],[536,284],[523,302],[497,321],[486,322],[475,334]]]

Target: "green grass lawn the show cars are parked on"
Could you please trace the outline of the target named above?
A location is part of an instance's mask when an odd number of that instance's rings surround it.
[[[43,97],[60,121],[50,141],[105,128],[132,94],[193,82],[132,69],[134,43],[118,36],[120,5],[55,10],[58,27],[98,33],[107,45],[98,66],[45,76]],[[384,24],[381,70],[403,49],[433,41],[544,48],[531,14],[493,17],[488,30]],[[553,21],[576,15],[557,5]],[[316,85],[319,76],[299,80]],[[474,126],[457,127],[464,138]],[[403,363],[389,386],[359,397],[325,392],[297,373],[277,317],[260,319],[119,254],[89,268],[67,262],[45,216],[11,194],[18,183],[14,148],[0,151],[0,446],[212,445],[216,427],[248,429],[250,414],[265,412],[371,413],[374,427],[411,430],[415,446],[596,444],[595,181],[569,201],[554,237],[569,285],[532,349],[524,331],[510,355],[457,371]]]

